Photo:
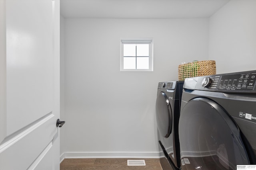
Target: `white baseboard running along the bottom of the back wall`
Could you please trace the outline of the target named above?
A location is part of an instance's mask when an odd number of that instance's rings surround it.
[[[60,162],[65,158],[162,158],[162,152],[64,152]]]

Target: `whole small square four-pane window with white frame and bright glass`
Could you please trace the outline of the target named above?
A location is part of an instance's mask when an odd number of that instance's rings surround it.
[[[153,71],[152,39],[121,39],[121,71]]]

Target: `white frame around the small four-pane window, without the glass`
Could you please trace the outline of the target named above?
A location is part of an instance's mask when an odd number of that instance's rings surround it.
[[[148,69],[124,69],[124,44],[148,44]],[[120,41],[120,71],[153,71],[153,38],[121,38]]]

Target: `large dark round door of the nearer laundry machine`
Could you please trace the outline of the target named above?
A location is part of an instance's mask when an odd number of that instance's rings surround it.
[[[183,107],[179,137],[184,170],[236,170],[237,164],[249,164],[238,127],[212,100],[195,98]]]

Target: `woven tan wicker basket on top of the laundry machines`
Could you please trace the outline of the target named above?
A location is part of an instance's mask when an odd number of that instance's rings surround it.
[[[215,61],[196,61],[178,66],[179,81],[185,80],[188,77],[208,76],[216,74]]]

